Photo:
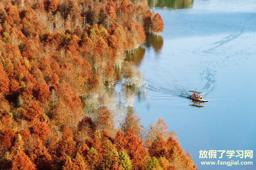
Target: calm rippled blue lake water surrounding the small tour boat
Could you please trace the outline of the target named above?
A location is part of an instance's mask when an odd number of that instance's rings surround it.
[[[164,32],[131,56],[150,95],[135,95],[134,108],[144,126],[164,119],[198,169],[256,169],[256,0],[189,2],[158,8]],[[188,90],[210,102],[190,106]],[[254,150],[254,165],[202,166],[199,150]]]

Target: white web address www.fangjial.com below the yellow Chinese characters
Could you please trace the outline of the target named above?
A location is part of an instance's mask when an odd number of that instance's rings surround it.
[[[241,161],[239,160],[230,160],[230,161],[201,161],[202,165],[226,165],[226,166],[233,166],[233,165],[252,165],[252,161]]]

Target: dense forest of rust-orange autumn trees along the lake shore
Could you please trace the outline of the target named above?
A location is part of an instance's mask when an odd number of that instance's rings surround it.
[[[0,169],[196,169],[164,120],[142,127],[133,91],[114,100],[120,77],[142,85],[125,52],[163,27],[146,0],[2,0]]]

